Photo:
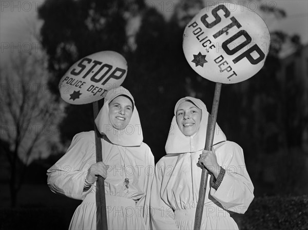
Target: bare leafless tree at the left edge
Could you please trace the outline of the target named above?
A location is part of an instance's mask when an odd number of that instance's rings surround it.
[[[58,141],[58,133],[48,133],[48,136],[44,133],[45,126],[50,126],[51,131],[56,129],[62,117],[55,114],[63,113],[63,106],[56,102],[55,96],[42,90],[49,78],[44,65],[46,58],[45,54],[18,53],[10,65],[1,68],[4,76],[1,82],[7,90],[3,90],[4,97],[1,97],[0,141],[10,163],[12,205],[27,166],[42,153],[50,152],[49,143]]]

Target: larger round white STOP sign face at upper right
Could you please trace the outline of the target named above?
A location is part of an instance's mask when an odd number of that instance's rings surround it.
[[[183,51],[199,75],[232,84],[264,65],[271,37],[262,18],[244,6],[223,3],[202,9],[185,28]]]

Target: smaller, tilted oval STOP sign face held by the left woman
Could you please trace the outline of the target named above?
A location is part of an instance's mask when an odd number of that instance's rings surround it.
[[[120,86],[127,74],[127,62],[114,51],[93,53],[73,64],[64,74],[59,90],[69,104],[98,101],[107,91]]]

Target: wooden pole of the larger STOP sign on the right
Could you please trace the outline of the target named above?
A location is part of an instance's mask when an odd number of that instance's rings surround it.
[[[213,147],[213,140],[214,140],[214,134],[215,134],[220,91],[221,91],[221,83],[216,83],[213,105],[212,105],[212,109],[211,109],[211,115],[210,115],[209,122],[208,122],[208,125],[207,125],[207,130],[206,130],[206,139],[205,139],[205,147],[204,147],[205,150],[211,150],[212,147]],[[194,230],[200,230],[202,214],[203,214],[204,199],[205,199],[205,192],[206,192],[207,178],[208,178],[208,171],[206,170],[206,168],[203,165]]]

